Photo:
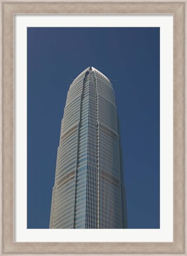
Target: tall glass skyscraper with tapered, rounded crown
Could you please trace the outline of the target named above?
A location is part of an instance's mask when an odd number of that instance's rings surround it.
[[[119,119],[110,80],[80,73],[61,121],[50,228],[127,228]]]

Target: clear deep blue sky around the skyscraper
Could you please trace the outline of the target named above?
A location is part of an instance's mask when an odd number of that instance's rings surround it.
[[[27,28],[27,226],[48,228],[67,91],[88,66],[112,82],[129,228],[160,228],[159,28]]]

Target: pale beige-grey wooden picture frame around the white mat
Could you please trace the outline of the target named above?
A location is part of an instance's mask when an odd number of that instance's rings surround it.
[[[186,1],[1,1],[1,255],[186,255]],[[14,241],[14,15],[173,15],[173,242]]]

